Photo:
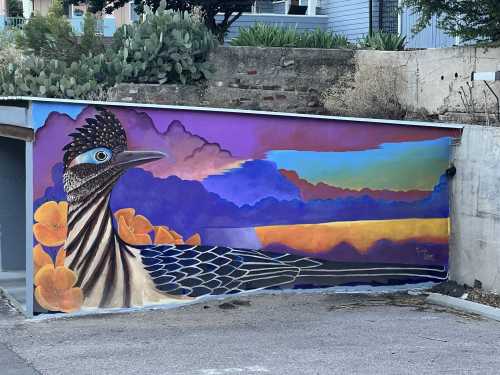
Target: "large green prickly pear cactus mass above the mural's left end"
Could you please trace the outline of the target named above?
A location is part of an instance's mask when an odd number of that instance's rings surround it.
[[[50,31],[43,17],[31,22],[31,28],[19,37],[24,56],[0,50],[0,62],[4,62],[0,95],[105,100],[107,90],[116,83],[184,84],[208,78],[214,69],[207,59],[217,40],[187,13],[163,8],[148,11],[141,23],[120,28],[107,50],[95,35],[95,20],[89,14],[79,49],[76,41],[57,43],[54,35],[73,40],[66,26],[58,34]],[[37,43],[46,47],[35,48]],[[5,48],[10,45],[3,44]]]

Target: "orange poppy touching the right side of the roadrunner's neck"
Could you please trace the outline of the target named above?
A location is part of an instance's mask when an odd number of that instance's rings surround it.
[[[150,221],[142,216],[136,215],[133,208],[122,208],[115,212],[118,222],[118,235],[130,245],[151,245],[149,232],[153,230]]]

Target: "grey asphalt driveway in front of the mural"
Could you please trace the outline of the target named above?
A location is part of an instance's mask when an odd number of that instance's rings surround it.
[[[40,321],[0,301],[2,375],[497,375],[499,369],[500,323],[407,294],[260,295]]]

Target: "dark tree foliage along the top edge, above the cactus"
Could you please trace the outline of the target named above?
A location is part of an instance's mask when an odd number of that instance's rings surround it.
[[[69,0],[78,4],[81,0]],[[123,7],[129,0],[88,0],[92,12],[105,11],[111,13],[113,10]],[[149,7],[156,11],[160,4],[165,2],[166,9],[193,12],[200,8],[205,24],[219,41],[224,40],[229,27],[243,12],[250,11],[254,0],[134,0],[137,13],[144,13],[144,8]],[[221,17],[216,15],[221,13]]]

